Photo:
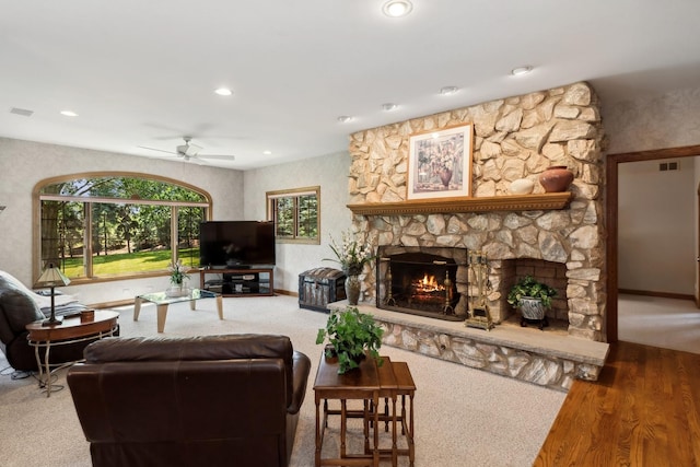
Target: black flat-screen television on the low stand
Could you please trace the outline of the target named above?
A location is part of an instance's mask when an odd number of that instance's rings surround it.
[[[210,221],[199,227],[199,266],[246,268],[275,265],[275,223]]]

